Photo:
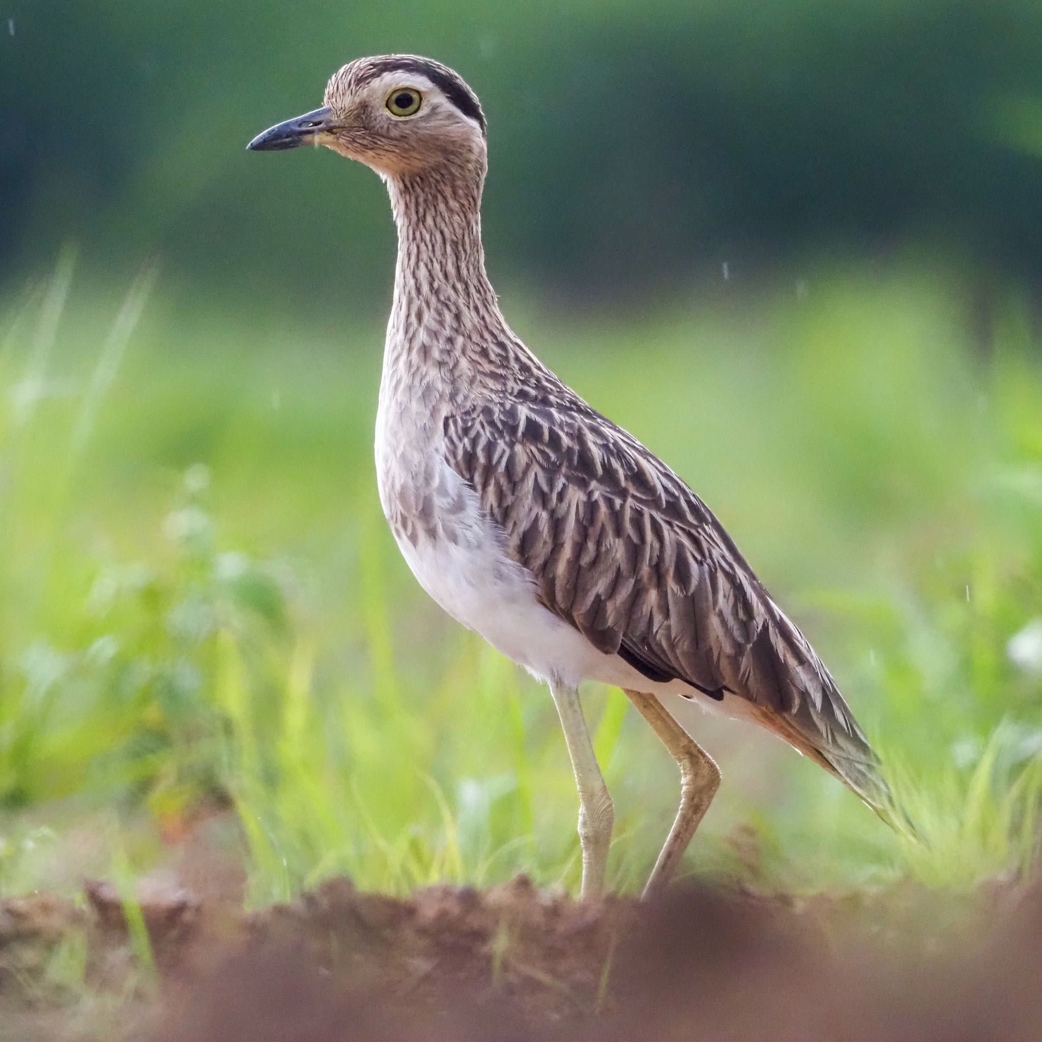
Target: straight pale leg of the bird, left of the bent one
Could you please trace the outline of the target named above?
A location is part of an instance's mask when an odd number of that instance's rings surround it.
[[[582,704],[575,688],[550,685],[553,701],[565,730],[579,791],[579,842],[582,845],[582,896],[595,897],[604,889],[607,849],[612,842],[615,808],[597,764]]]

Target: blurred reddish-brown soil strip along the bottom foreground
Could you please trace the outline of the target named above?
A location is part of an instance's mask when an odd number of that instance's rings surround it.
[[[576,902],[519,878],[398,900],[330,880],[242,913],[143,886],[141,968],[106,884],[0,902],[0,1038],[492,1042],[1042,1038],[1042,889]],[[76,945],[79,945],[76,948]],[[63,984],[85,952],[89,988]],[[57,967],[57,968],[56,968]]]

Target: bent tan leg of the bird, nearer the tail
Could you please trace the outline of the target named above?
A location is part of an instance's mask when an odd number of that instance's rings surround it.
[[[720,768],[713,758],[673,719],[669,710],[654,696],[627,691],[629,700],[651,724],[663,745],[680,768],[680,809],[669,830],[651,875],[644,887],[644,897],[661,892],[673,877],[691,837],[709,810],[720,787]]]

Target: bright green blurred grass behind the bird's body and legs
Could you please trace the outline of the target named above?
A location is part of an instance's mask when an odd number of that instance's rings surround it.
[[[964,888],[1035,855],[1042,366],[1015,299],[975,344],[960,279],[920,271],[821,273],[640,323],[505,302],[721,516],[928,840],[697,716],[724,785],[689,870]],[[379,329],[189,306],[152,271],[121,300],[71,254],[0,316],[0,889],[146,870],[220,798],[254,901],[340,872],[574,887],[547,693],[425,599],[379,516]],[[586,704],[613,882],[632,889],[674,769],[619,692]]]

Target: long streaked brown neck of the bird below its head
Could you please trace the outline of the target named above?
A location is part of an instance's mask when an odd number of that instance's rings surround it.
[[[485,273],[483,179],[477,163],[388,179],[398,227],[389,354],[419,355],[417,361],[444,367],[505,328]]]

